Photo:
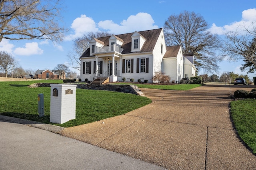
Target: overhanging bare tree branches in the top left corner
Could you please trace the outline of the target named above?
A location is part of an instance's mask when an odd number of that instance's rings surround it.
[[[3,38],[62,40],[60,0],[0,0],[0,42]]]

